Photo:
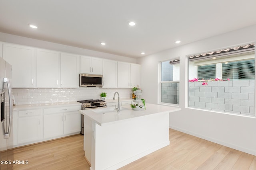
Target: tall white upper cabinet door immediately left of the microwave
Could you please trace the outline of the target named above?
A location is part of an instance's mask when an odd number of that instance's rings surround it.
[[[60,87],[79,88],[79,55],[60,54]]]

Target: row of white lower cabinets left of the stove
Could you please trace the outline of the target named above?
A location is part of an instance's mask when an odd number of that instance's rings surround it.
[[[80,133],[80,109],[78,105],[14,111],[14,147]]]

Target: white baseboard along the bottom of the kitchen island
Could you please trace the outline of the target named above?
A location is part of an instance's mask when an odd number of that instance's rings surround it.
[[[155,146],[155,147],[153,147],[151,149],[145,150],[144,152],[141,152],[141,153],[139,153],[139,154],[137,154],[135,156],[132,156],[131,158],[128,158],[128,159],[126,159],[126,160],[124,160],[122,162],[119,162],[118,164],[110,166],[110,167],[106,168],[106,170],[116,170],[118,168],[121,168],[121,167],[123,167],[123,166],[125,166],[127,164],[130,164],[131,162],[133,162],[135,160],[138,160],[139,158],[142,158],[143,156],[146,156],[146,155],[148,155],[148,154],[150,154],[150,153],[152,153],[152,152],[154,152],[154,151],[156,151],[158,149],[166,147],[168,145],[170,145],[170,141],[166,141],[164,143],[161,143],[161,144],[159,144],[159,145],[157,145],[157,146]]]

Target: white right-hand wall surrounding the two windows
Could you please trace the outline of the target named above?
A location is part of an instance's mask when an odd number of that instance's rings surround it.
[[[158,102],[158,63],[180,57],[180,108],[170,113],[170,128],[256,155],[256,119],[186,108],[188,66],[186,55],[243,45],[256,41],[256,25],[196,41],[138,59],[142,68],[143,98]]]

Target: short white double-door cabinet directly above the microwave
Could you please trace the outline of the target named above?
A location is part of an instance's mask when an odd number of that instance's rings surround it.
[[[80,56],[80,73],[102,75],[103,59]]]

